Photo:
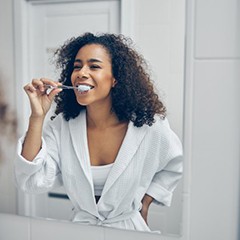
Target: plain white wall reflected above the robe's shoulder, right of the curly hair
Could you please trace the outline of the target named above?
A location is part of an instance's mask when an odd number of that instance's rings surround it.
[[[171,127],[182,138],[185,0],[135,1],[134,40],[147,59]]]

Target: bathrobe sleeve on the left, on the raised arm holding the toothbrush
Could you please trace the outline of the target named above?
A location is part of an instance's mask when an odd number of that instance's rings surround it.
[[[17,144],[15,180],[18,188],[28,193],[43,193],[62,185],[57,134],[50,125],[46,126],[46,132],[32,162],[21,155],[24,136]]]

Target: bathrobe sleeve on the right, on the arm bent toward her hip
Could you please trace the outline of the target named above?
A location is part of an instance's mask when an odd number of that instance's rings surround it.
[[[182,177],[182,144],[165,120],[161,132],[159,168],[155,173],[147,194],[154,198],[154,203],[170,206],[173,191]],[[163,163],[163,164],[162,164]]]

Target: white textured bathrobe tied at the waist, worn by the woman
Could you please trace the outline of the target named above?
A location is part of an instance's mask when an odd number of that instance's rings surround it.
[[[59,114],[45,128],[42,148],[32,162],[18,143],[16,181],[23,191],[43,193],[64,185],[74,205],[73,221],[150,231],[139,211],[144,194],[170,206],[182,175],[182,146],[167,119],[151,126],[130,122],[122,146],[96,204],[87,144],[86,112],[70,121]]]

